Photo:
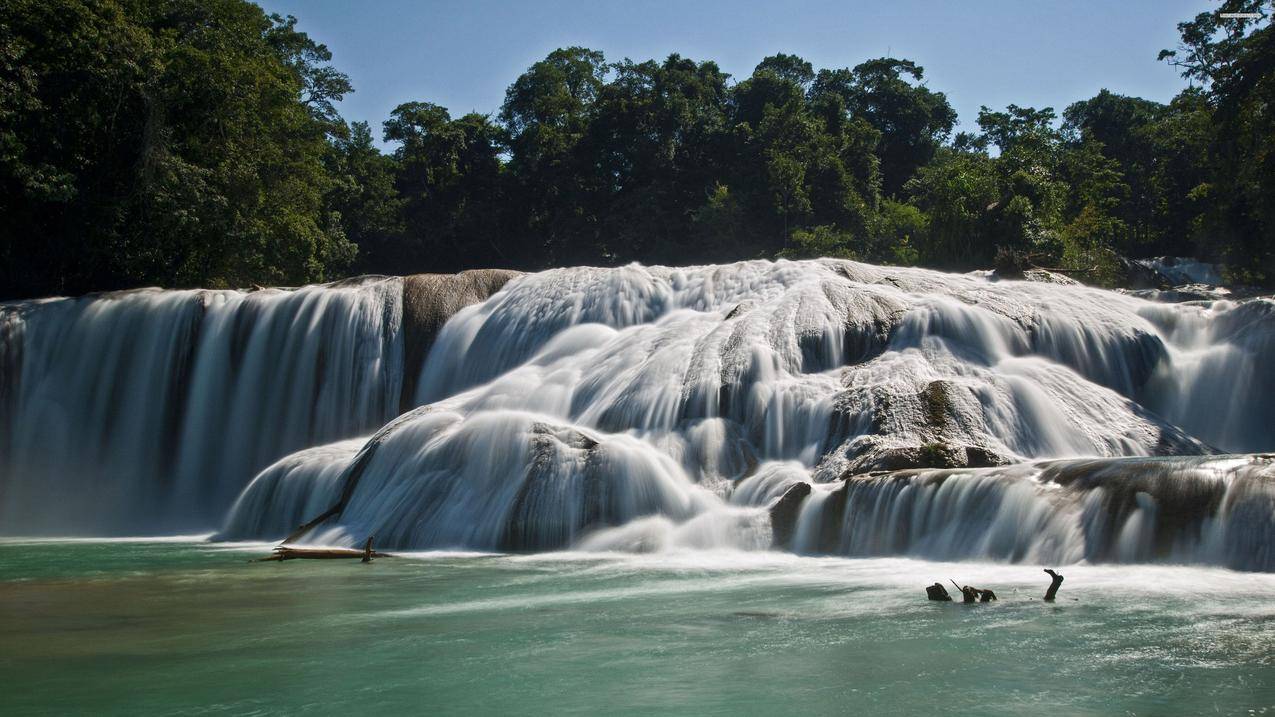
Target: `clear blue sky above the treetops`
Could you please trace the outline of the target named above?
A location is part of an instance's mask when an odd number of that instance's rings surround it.
[[[607,60],[680,52],[714,60],[734,79],[766,55],[819,68],[891,55],[919,63],[974,129],[978,107],[1062,111],[1102,88],[1168,101],[1184,87],[1155,60],[1177,45],[1177,23],[1204,0],[1005,1],[404,1],[264,0],[333,51],[354,93],[348,120],[380,124],[402,102],[428,101],[459,116],[495,114],[505,88],[556,47],[602,50]]]

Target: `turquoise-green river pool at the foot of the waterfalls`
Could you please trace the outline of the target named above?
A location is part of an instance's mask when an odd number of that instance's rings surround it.
[[[1270,574],[264,552],[0,542],[0,713],[1275,713]]]

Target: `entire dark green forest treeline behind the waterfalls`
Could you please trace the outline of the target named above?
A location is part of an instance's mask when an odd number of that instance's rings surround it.
[[[328,50],[244,0],[0,10],[0,295],[349,273],[852,256],[1119,281],[1118,255],[1275,282],[1275,31],[1265,1],[1179,24],[1168,105],[1107,91],[984,107],[923,69],[557,50],[495,115],[348,125]],[[1150,59],[1149,59],[1150,61]]]

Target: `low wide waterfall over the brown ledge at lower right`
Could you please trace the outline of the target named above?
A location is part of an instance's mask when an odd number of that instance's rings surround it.
[[[1275,570],[1275,457],[1071,459],[856,476],[821,503],[807,499],[801,521],[833,527],[824,533],[830,537],[805,546],[813,552]]]

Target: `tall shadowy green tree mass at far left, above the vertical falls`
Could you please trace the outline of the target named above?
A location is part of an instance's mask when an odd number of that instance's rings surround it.
[[[14,0],[0,14],[4,296],[301,283],[343,270],[324,208],[326,48],[242,0]]]

